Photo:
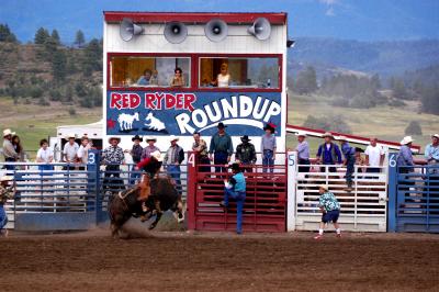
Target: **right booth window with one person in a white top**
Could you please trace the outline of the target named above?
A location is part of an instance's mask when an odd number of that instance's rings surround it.
[[[279,89],[279,59],[200,58],[199,86],[202,88]]]

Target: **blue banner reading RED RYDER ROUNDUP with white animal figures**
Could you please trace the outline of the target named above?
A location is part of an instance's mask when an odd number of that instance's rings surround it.
[[[267,123],[281,132],[280,92],[109,91],[108,135],[212,135],[223,122],[232,136],[258,136]]]

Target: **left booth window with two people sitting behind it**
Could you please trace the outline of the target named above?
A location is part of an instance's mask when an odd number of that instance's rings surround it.
[[[189,57],[113,56],[110,66],[111,87],[189,87],[191,83]]]

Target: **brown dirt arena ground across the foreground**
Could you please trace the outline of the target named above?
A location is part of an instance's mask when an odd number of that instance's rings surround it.
[[[312,235],[12,234],[0,238],[0,290],[439,290],[439,235]]]

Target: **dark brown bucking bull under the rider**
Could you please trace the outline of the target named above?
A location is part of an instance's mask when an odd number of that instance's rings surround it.
[[[183,205],[181,195],[170,178],[158,177],[150,180],[150,195],[146,200],[148,209],[145,212],[142,202],[138,200],[140,188],[138,186],[114,193],[109,202],[109,215],[111,221],[111,233],[115,237],[120,229],[132,216],[145,215],[147,220],[156,215],[155,221],[149,225],[154,229],[160,221],[165,211],[171,210],[177,213],[179,220],[183,217]]]

